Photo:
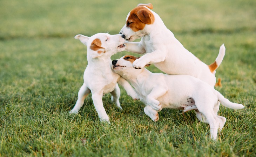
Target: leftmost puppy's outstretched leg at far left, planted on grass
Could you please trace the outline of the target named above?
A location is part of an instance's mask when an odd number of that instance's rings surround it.
[[[90,89],[87,88],[86,84],[83,83],[82,87],[80,88],[78,92],[78,100],[76,100],[75,106],[71,111],[69,111],[70,114],[72,113],[78,113],[78,111],[81,109],[83,106],[83,103],[85,101],[85,98],[87,97],[88,94],[90,94]]]

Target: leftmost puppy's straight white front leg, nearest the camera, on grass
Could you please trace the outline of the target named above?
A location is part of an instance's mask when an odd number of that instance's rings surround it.
[[[95,110],[99,115],[100,121],[106,121],[110,124],[109,117],[103,106],[102,94],[92,93],[92,99],[93,99]]]

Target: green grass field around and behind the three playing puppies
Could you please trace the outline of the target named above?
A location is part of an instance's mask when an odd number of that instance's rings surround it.
[[[216,88],[243,110],[220,106],[217,141],[194,111],[164,109],[153,122],[121,88],[123,111],[90,95],[69,115],[83,83],[86,47],[74,36],[119,33],[128,12],[150,1],[0,1],[0,156],[256,156],[256,1],[162,0],[154,11],[190,52],[210,64],[225,44]],[[120,58],[128,52],[112,57]],[[152,72],[160,72],[150,66]]]

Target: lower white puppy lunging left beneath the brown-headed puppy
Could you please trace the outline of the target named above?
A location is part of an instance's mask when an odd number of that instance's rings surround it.
[[[140,100],[147,105],[144,112],[153,121],[159,120],[157,111],[162,107],[183,112],[195,110],[196,117],[210,125],[211,138],[216,140],[218,130],[221,131],[226,122],[225,117],[217,115],[220,103],[230,109],[244,108],[242,104],[231,103],[214,87],[193,76],[164,75],[151,73],[146,68],[135,69],[133,63],[137,59],[125,55],[112,61],[112,69],[132,84]]]

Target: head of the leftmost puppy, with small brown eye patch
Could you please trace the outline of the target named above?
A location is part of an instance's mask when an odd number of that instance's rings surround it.
[[[79,39],[87,46],[87,56],[89,55],[90,58],[98,58],[102,55],[110,57],[125,49],[124,35],[120,34],[97,33],[91,37],[79,34],[75,36],[75,39]]]

